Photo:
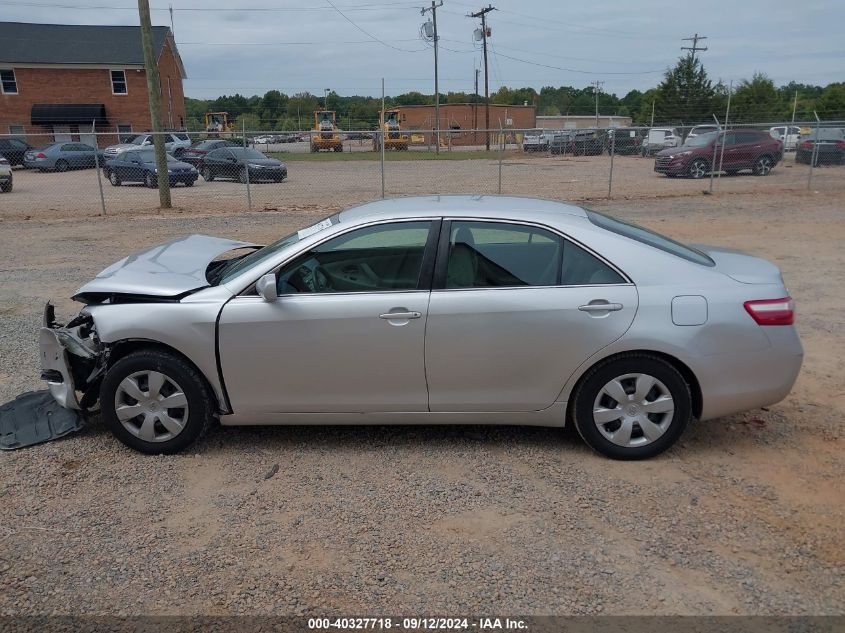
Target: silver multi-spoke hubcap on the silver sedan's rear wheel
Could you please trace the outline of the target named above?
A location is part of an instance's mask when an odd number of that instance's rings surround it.
[[[617,446],[651,444],[666,432],[674,414],[669,389],[648,374],[614,378],[593,403],[593,422]]]

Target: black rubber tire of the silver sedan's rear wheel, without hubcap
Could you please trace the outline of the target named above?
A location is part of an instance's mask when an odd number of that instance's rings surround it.
[[[647,374],[656,378],[668,389],[674,405],[671,419],[665,420],[668,424],[663,434],[641,446],[620,446],[613,443],[599,431],[597,423],[593,420],[594,404],[605,385],[628,374]],[[684,432],[692,415],[692,396],[684,377],[670,363],[650,354],[632,353],[609,358],[590,369],[573,393],[570,413],[578,434],[593,450],[611,459],[648,459],[668,449]],[[612,432],[613,424],[618,422],[608,422],[603,428]],[[631,437],[633,440],[637,439],[633,435]],[[644,440],[645,435],[640,435],[640,438]]]

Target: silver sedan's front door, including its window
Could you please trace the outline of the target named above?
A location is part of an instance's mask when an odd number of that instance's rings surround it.
[[[438,227],[425,220],[355,229],[283,265],[275,302],[248,292],[227,303],[219,352],[234,412],[426,411]]]

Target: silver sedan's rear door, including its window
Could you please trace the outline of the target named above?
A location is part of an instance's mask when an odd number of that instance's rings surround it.
[[[478,221],[448,231],[428,310],[431,411],[547,408],[633,320],[634,286],[556,233]]]

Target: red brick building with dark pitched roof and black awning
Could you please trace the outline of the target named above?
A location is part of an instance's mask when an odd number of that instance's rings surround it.
[[[153,52],[164,125],[181,129],[186,75],[168,27],[153,27]],[[113,133],[100,146],[152,127],[140,27],[0,22],[0,135],[91,143],[94,121]]]

